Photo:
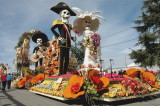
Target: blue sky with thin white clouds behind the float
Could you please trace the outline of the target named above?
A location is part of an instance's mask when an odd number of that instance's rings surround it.
[[[0,1],[0,63],[8,63],[12,69],[16,43],[23,32],[41,30],[49,39],[53,20],[60,19],[50,8],[58,2],[65,2],[70,7],[78,7],[83,11],[101,11],[106,21],[101,20],[98,34],[101,35],[102,59],[105,68],[109,67],[109,59],[114,60],[113,67],[123,67],[133,61],[129,59],[129,48],[137,49],[137,40],[112,45],[138,37],[134,30],[134,20],[141,15],[144,0],[1,0]],[[70,18],[70,23],[76,17]],[[122,31],[123,30],[123,31]],[[117,33],[120,32],[121,33]],[[110,36],[112,35],[112,36]],[[109,37],[107,37],[109,36]],[[112,45],[112,46],[107,46]],[[30,52],[36,46],[30,43]],[[126,56],[126,62],[125,62]]]

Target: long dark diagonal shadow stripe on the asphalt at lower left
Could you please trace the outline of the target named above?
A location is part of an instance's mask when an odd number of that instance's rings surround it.
[[[1,91],[1,93],[3,93],[4,95],[7,96],[7,98],[12,101],[14,104],[16,104],[17,106],[25,106],[24,104],[22,104],[21,102],[15,100],[11,95],[9,95],[6,91]],[[3,106],[9,106],[9,104],[4,104]]]

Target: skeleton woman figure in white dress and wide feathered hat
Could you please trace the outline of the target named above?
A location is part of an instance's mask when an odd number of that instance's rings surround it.
[[[83,45],[85,47],[85,57],[83,62],[83,68],[98,68],[100,57],[100,35],[95,31],[99,28],[99,18],[103,18],[99,15],[99,11],[95,12],[83,12],[79,8],[72,8],[79,12],[77,18],[74,21],[73,30],[77,31],[79,35],[83,35]]]

